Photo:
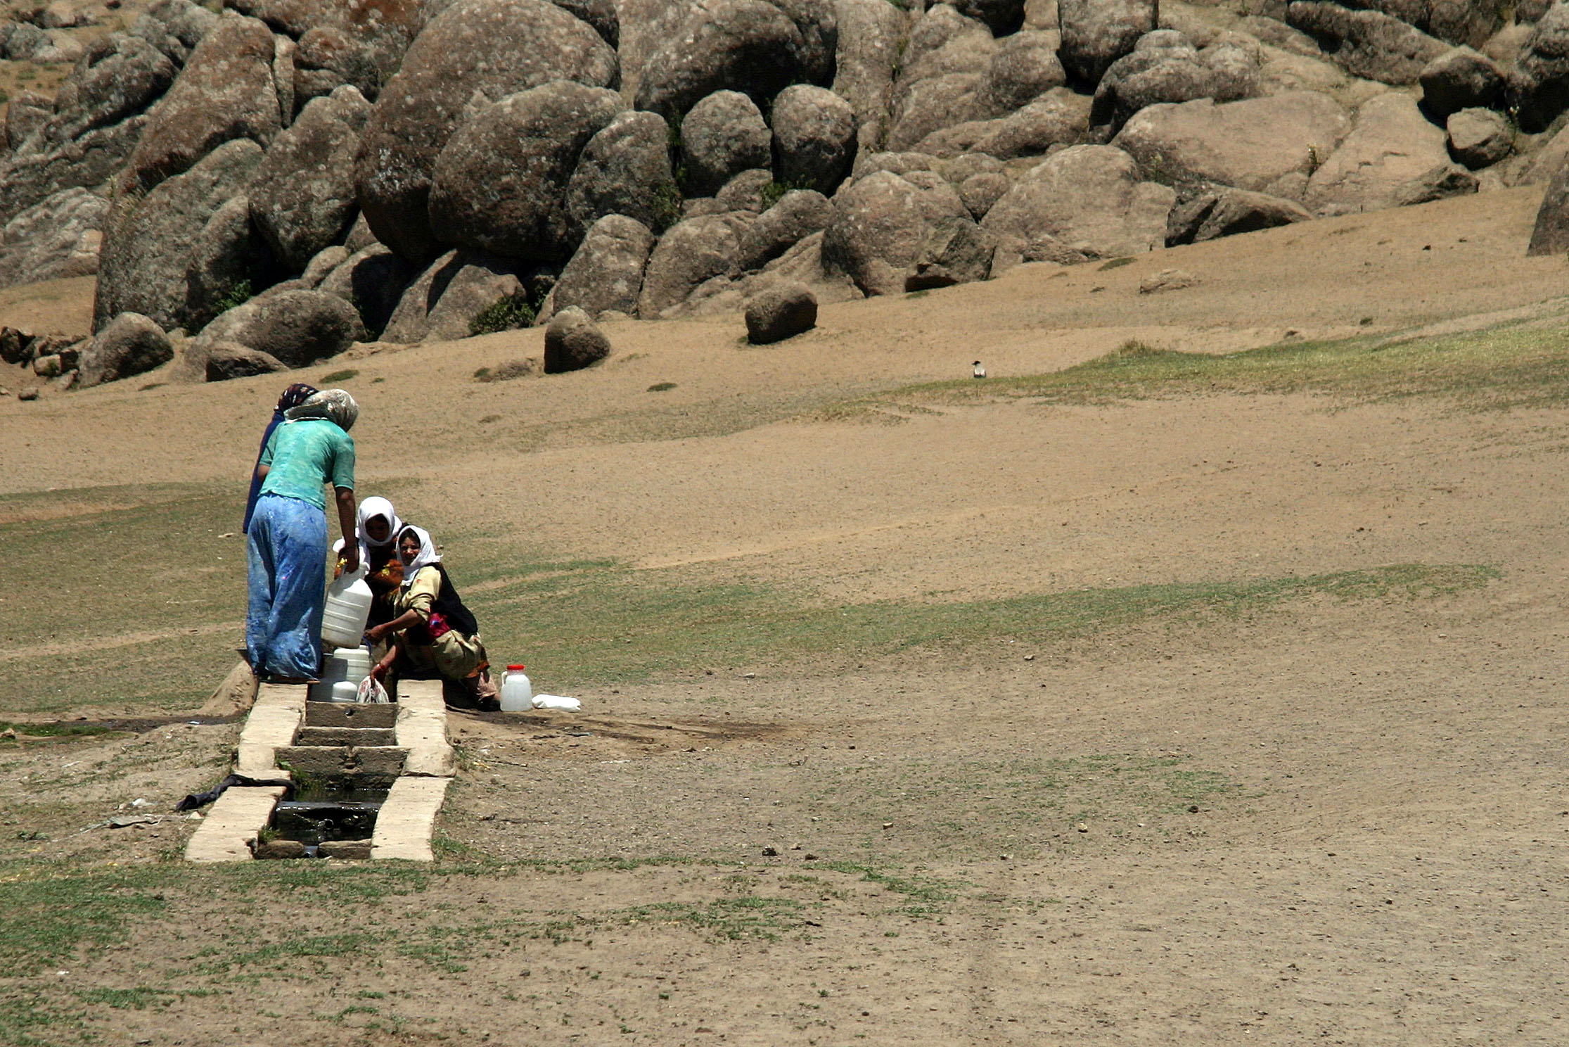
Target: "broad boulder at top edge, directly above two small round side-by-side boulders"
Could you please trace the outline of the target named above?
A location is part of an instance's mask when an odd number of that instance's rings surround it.
[[[715,91],[770,99],[833,78],[838,19],[830,0],[698,0],[643,64],[637,108],[672,119]]]

